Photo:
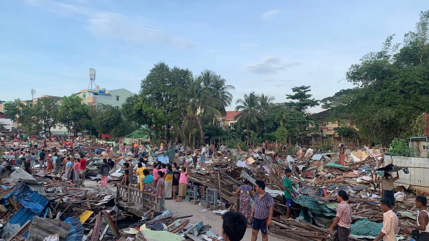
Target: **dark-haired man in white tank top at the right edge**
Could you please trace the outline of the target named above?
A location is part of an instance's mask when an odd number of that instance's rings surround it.
[[[426,209],[427,199],[425,196],[416,196],[416,207],[420,209],[417,216],[417,225],[408,225],[406,228],[413,228],[411,235],[416,241],[429,240],[429,212]]]

